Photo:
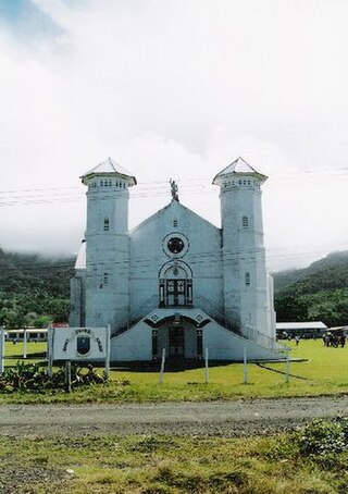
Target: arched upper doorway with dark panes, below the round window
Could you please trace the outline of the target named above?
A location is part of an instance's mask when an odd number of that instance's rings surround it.
[[[160,307],[192,305],[192,273],[182,261],[164,264],[160,271]]]

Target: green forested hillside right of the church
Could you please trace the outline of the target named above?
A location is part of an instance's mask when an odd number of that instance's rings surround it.
[[[348,251],[333,252],[309,268],[273,274],[277,321],[348,325]]]

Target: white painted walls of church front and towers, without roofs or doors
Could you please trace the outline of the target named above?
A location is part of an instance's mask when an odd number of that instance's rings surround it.
[[[110,174],[108,186],[100,185],[98,174],[85,177],[88,185],[86,269],[78,262],[72,282],[71,323],[83,324],[85,307],[84,325],[110,324],[115,331],[135,324],[158,308],[160,277],[165,272],[173,273],[177,265],[178,276],[184,272],[191,276],[195,308],[216,319],[227,317],[244,334],[251,326],[275,337],[272,284],[266,277],[263,247],[260,176],[233,174],[236,183],[241,181],[236,187],[225,187],[228,176],[221,182],[222,230],[172,200],[132,232],[128,232],[127,187],[134,177],[129,177],[128,184],[126,177]],[[247,229],[244,217],[248,218]],[[165,248],[171,234],[184,239],[183,252],[173,255]],[[250,285],[246,285],[247,272]],[[172,313],[176,310],[171,309]],[[187,357],[195,356],[194,333],[190,336],[187,333],[187,341],[191,338],[185,347]],[[204,330],[204,345],[210,347],[210,358],[214,359],[234,359],[243,351],[238,337],[217,323]],[[260,358],[265,358],[264,349],[251,343],[249,346],[252,358],[257,358],[258,351]],[[144,323],[112,341],[115,360],[149,360],[151,349],[151,329]]]

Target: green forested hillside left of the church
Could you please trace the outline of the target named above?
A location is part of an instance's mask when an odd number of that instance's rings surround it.
[[[0,324],[8,329],[66,321],[75,259],[0,249]]]

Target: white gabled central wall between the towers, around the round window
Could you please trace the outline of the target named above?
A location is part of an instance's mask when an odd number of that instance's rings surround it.
[[[175,232],[189,244],[184,256],[169,256],[163,248],[164,239]],[[156,307],[159,273],[163,265],[170,268],[174,259],[192,272],[194,304],[207,299],[223,312],[221,232],[175,200],[130,232],[130,307],[144,306],[145,314],[151,309],[146,304],[151,298],[152,308]]]

